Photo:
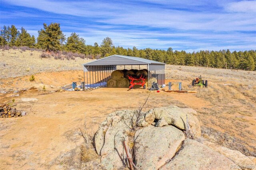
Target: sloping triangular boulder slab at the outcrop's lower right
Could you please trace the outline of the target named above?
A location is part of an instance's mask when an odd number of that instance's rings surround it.
[[[186,139],[182,150],[160,170],[228,170],[235,165],[226,156],[196,140]]]

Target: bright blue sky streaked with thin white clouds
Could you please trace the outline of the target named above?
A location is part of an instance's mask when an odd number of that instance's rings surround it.
[[[200,51],[256,49],[256,0],[0,0],[0,26],[34,36],[43,23],[60,23],[86,44],[107,36],[138,49]]]

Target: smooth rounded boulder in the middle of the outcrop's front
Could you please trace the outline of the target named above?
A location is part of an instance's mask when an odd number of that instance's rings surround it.
[[[185,136],[173,126],[152,125],[137,130],[134,135],[134,158],[140,170],[155,170],[171,159]]]

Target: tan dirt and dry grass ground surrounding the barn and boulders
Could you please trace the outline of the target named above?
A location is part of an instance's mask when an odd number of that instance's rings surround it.
[[[82,69],[82,68],[81,68]],[[2,73],[3,69],[0,67]],[[18,74],[18,73],[17,73]],[[208,88],[191,87],[198,75]],[[177,105],[198,112],[202,140],[256,156],[256,72],[166,65],[166,83],[182,81],[182,88],[198,93],[149,92],[145,89],[100,88],[92,91],[54,92],[72,81],[82,81],[83,71],[58,71],[0,79],[0,103],[15,99],[27,112],[20,118],[0,118],[0,169],[70,169],[80,167],[80,129],[94,134],[109,113]],[[42,86],[46,86],[46,91]],[[29,89],[30,87],[36,87]],[[27,89],[21,91],[21,89]],[[18,93],[14,91],[19,90]],[[19,96],[15,96],[15,95]],[[22,102],[22,98],[37,101]]]

